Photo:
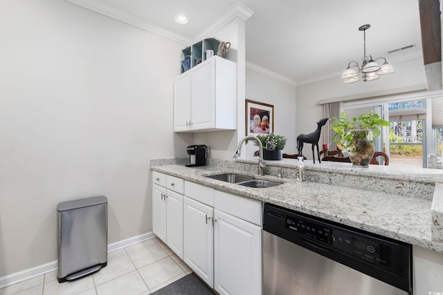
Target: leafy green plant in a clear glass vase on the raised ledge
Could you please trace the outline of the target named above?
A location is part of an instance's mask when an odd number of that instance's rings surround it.
[[[374,155],[374,141],[379,137],[379,127],[390,126],[389,122],[376,113],[364,113],[360,117],[348,118],[341,113],[339,118],[333,117],[329,125],[336,133],[332,140],[338,149],[347,152],[352,166],[368,167]]]

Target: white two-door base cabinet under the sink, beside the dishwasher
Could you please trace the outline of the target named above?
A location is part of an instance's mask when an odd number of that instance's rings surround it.
[[[185,182],[184,260],[219,294],[262,294],[262,203]]]

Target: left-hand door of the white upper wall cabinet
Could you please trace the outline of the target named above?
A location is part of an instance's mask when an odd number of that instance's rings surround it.
[[[174,78],[174,131],[191,130],[191,73]]]

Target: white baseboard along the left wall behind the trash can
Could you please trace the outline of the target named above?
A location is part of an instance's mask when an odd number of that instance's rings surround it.
[[[156,236],[152,231],[141,234],[139,236],[133,236],[125,240],[120,240],[118,242],[113,242],[108,244],[108,252],[115,251],[130,245],[134,245],[138,242],[143,242],[144,240],[149,240],[155,238]],[[37,265],[36,267],[31,267],[24,269],[21,272],[15,272],[14,274],[8,274],[6,276],[0,277],[0,289],[3,287],[8,287],[16,283],[20,283],[29,278],[34,278],[35,276],[41,276],[42,274],[47,274],[48,272],[53,272],[57,269],[57,260],[45,263],[43,265]]]

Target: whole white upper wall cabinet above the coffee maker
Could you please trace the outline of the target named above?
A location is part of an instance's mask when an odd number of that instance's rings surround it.
[[[237,65],[210,57],[174,79],[174,131],[237,128]]]

